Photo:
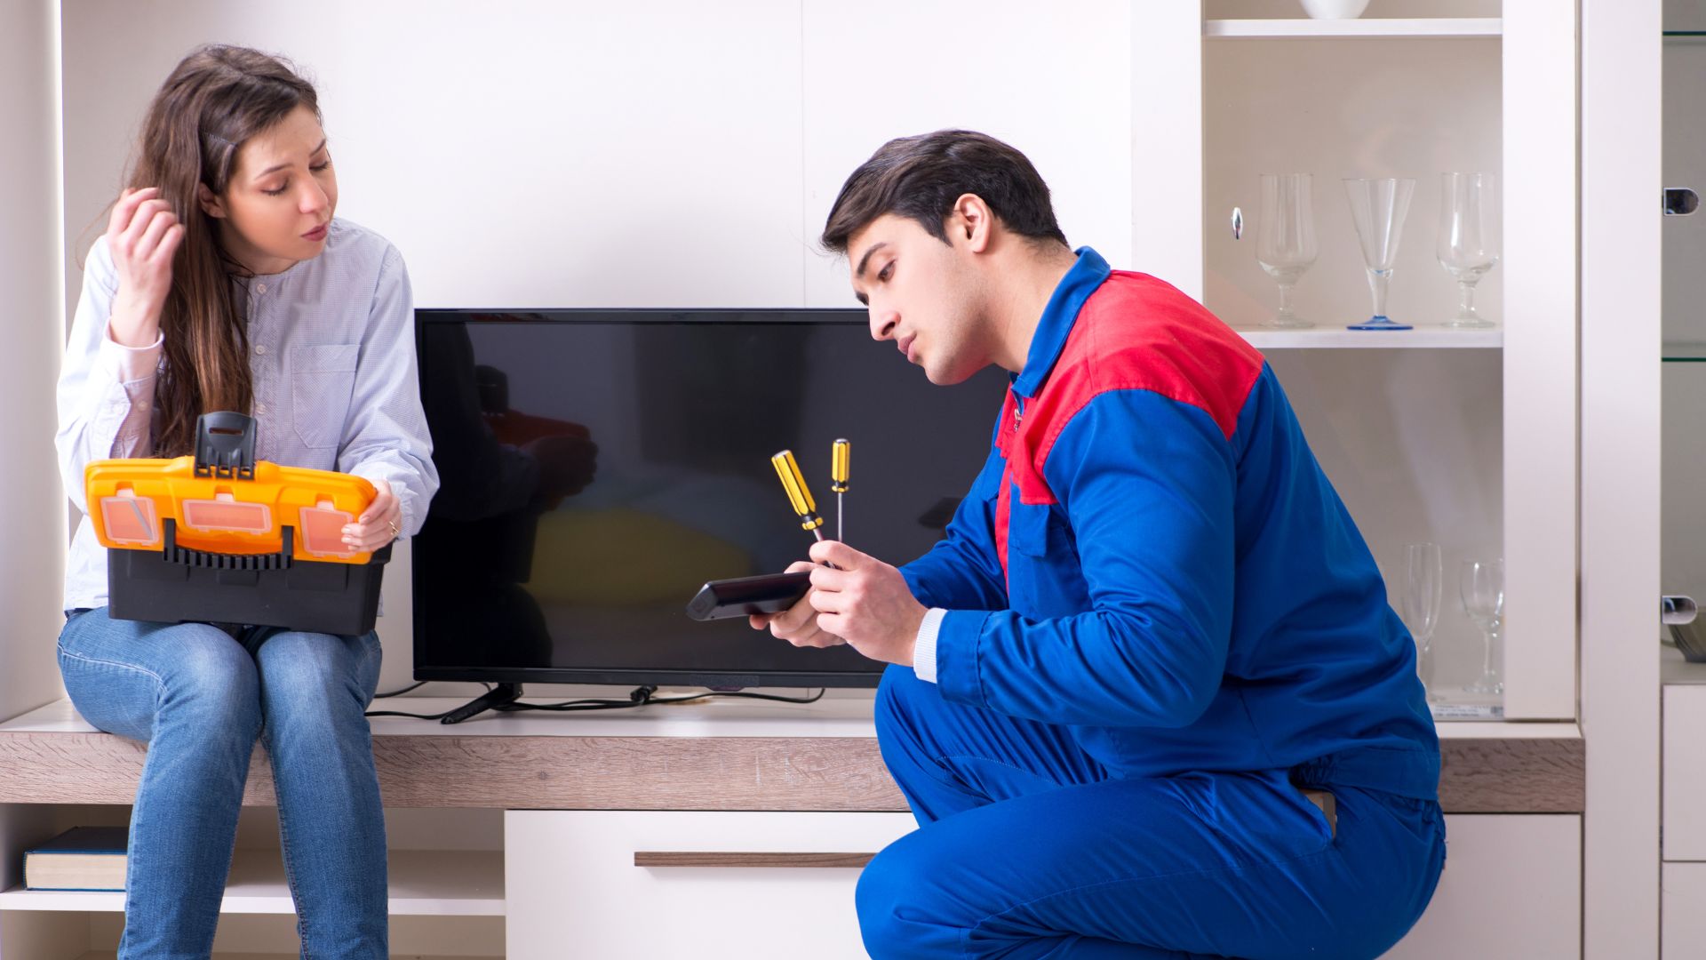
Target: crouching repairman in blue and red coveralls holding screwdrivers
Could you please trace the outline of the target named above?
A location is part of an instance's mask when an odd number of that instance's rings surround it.
[[[885,143],[822,239],[931,383],[1013,374],[945,540],[902,569],[817,543],[812,593],[752,618],[894,664],[877,731],[920,830],[860,880],[870,953],[1385,951],[1443,866],[1438,741],[1261,354],[1073,253],[981,133]]]

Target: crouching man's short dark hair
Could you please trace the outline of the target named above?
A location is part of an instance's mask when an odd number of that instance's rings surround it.
[[[966,193],[981,196],[1008,231],[1066,246],[1037,167],[1013,147],[972,130],[937,130],[884,143],[841,184],[822,244],[844,255],[853,234],[884,214],[916,220],[949,243],[949,214]]]

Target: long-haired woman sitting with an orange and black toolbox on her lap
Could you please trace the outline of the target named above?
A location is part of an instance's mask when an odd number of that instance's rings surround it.
[[[368,478],[345,541],[420,530],[438,478],[396,248],[336,220],[314,87],[208,46],[167,77],[130,190],[96,241],[60,376],[60,473],[191,453],[196,417],[241,410],[256,458]],[[278,793],[302,955],[386,957],[386,839],[363,711],[379,639],[106,610],[85,516],[67,559],[60,670],[97,728],[143,740],[119,957],[206,957],[256,738]]]

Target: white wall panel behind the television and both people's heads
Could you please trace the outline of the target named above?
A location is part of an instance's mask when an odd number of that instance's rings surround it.
[[[1119,0],[78,0],[63,31],[72,297],[148,97],[212,41],[319,84],[339,214],[397,244],[420,306],[853,306],[815,249],[827,207],[884,140],[942,126],[1010,140],[1070,241],[1131,251]],[[392,685],[406,555],[386,579]]]

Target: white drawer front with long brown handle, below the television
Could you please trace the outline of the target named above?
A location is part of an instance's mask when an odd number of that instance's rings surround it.
[[[853,888],[906,813],[519,810],[503,817],[512,960],[862,958]]]

